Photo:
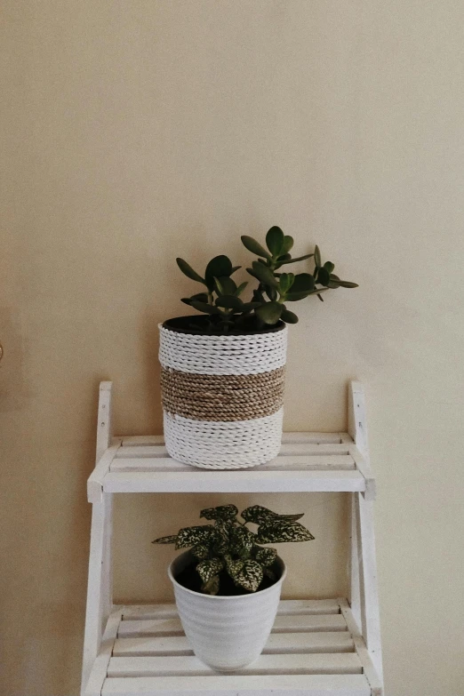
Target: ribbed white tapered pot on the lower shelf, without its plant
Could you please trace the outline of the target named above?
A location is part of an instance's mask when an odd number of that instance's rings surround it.
[[[175,580],[192,560],[189,551],[178,556],[168,575],[180,621],[196,657],[217,672],[233,672],[251,664],[262,652],[276,619],[284,561],[277,556],[282,574],[270,588],[239,596],[202,595]]]

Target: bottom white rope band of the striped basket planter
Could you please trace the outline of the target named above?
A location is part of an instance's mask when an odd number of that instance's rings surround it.
[[[164,412],[164,440],[172,458],[199,468],[256,467],[280,451],[284,411],[255,420],[189,420]]]

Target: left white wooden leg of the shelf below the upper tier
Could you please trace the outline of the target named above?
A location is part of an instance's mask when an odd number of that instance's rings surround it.
[[[96,659],[103,631],[113,609],[111,531],[112,493],[92,506],[92,531],[85,616],[82,693]]]

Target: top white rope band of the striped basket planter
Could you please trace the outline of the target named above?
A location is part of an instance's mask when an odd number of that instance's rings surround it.
[[[244,336],[173,332],[159,324],[163,367],[196,374],[259,374],[284,367],[287,328]]]

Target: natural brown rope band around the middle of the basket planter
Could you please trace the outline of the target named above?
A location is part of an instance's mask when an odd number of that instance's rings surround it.
[[[162,368],[163,408],[193,420],[251,420],[275,413],[284,403],[281,367],[260,374],[191,374]]]

